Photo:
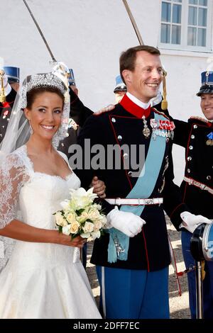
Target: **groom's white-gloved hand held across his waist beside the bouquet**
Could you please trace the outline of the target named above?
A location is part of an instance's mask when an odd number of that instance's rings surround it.
[[[114,227],[117,230],[124,232],[128,237],[138,235],[145,224],[146,221],[139,216],[129,212],[122,212],[117,207],[107,214],[108,227]]]

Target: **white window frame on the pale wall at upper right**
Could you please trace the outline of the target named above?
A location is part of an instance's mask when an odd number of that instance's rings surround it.
[[[162,2],[160,1],[160,33],[158,40],[158,47],[160,49],[165,50],[182,50],[182,51],[193,51],[193,52],[212,52],[212,26],[213,26],[213,0],[208,0],[207,4],[207,40],[206,46],[192,46],[187,45],[187,34],[188,34],[188,10],[189,10],[189,1],[182,0],[182,10],[181,10],[181,32],[180,32],[180,45],[179,44],[171,44],[171,43],[161,43],[160,35],[161,35],[161,8]]]

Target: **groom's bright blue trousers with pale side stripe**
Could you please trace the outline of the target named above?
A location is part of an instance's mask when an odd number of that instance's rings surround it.
[[[106,309],[106,318],[169,318],[168,267],[148,272],[97,266],[97,276],[101,287],[100,311],[103,315]]]

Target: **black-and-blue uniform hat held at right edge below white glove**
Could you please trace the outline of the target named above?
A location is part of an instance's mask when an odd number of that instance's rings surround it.
[[[196,261],[213,261],[213,223],[202,223],[195,229],[190,250]]]

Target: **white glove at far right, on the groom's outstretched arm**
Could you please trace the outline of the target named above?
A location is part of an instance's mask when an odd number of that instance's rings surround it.
[[[180,218],[182,218],[180,227],[185,227],[189,232],[194,232],[198,225],[201,225],[202,223],[211,223],[208,218],[205,218],[202,215],[191,214],[190,212],[182,212]]]

